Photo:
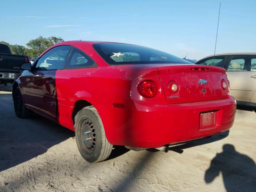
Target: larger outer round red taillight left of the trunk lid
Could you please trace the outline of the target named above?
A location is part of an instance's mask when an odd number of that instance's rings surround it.
[[[154,97],[157,93],[157,85],[154,81],[144,81],[138,86],[138,92],[144,97]]]

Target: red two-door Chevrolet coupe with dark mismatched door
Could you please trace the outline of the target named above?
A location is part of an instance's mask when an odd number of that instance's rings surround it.
[[[227,131],[236,101],[226,71],[131,44],[69,41],[43,52],[13,84],[16,115],[30,110],[74,130],[81,155],[113,145],[158,148]]]

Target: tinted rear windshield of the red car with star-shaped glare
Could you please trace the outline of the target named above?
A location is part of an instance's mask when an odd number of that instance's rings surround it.
[[[118,44],[97,43],[94,49],[110,65],[150,64],[150,63],[184,63],[190,62],[171,54],[148,47]]]

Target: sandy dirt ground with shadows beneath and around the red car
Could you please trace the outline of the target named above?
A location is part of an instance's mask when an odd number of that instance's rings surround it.
[[[17,118],[10,90],[0,85],[0,192],[256,191],[255,112],[237,110],[227,137],[168,153],[117,147],[109,160],[90,164],[74,132],[40,116]]]

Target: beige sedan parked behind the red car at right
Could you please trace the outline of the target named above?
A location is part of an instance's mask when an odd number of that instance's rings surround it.
[[[195,64],[225,68],[237,104],[256,111],[256,53],[217,54]]]

